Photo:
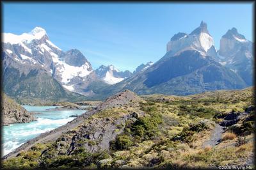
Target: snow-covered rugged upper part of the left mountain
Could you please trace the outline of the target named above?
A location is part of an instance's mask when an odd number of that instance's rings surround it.
[[[86,95],[84,88],[96,79],[91,64],[79,50],[64,52],[49,40],[42,27],[22,35],[3,33],[3,43],[5,54],[23,65],[21,72],[37,66],[70,91]]]

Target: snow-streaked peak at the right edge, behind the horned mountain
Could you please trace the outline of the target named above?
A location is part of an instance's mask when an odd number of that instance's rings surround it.
[[[252,85],[252,42],[239,34],[235,27],[221,37],[218,58],[222,65],[239,74],[246,84]]]

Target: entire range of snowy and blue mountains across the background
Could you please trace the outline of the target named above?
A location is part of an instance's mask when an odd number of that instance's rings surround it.
[[[191,33],[172,36],[156,63],[141,64],[132,73],[113,65],[93,70],[79,50],[61,50],[44,29],[35,27],[22,35],[3,33],[3,88],[10,97],[49,100],[102,99],[123,89],[140,95],[242,89],[252,86],[252,47],[232,28],[216,50],[202,21]]]

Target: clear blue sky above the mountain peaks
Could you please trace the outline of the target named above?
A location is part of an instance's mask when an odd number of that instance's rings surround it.
[[[93,69],[130,70],[164,56],[178,32],[207,23],[216,49],[228,29],[252,40],[252,3],[3,3],[3,31],[20,35],[36,26],[63,50],[79,49]]]

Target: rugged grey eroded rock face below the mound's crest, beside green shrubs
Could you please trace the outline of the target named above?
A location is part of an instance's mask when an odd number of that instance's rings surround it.
[[[85,148],[90,153],[109,150],[111,141],[124,131],[125,121],[133,118],[132,114],[119,113],[120,118],[95,118],[84,125],[71,130],[60,137],[52,148],[54,155],[72,155],[79,148]],[[53,157],[51,149],[45,151],[42,157]]]

